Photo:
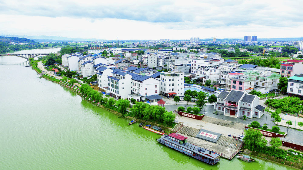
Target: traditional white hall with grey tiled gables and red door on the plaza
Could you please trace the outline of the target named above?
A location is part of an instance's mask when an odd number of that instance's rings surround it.
[[[264,107],[259,105],[259,97],[247,92],[231,90],[221,91],[214,104],[214,109],[224,115],[248,118],[260,118],[264,114]]]

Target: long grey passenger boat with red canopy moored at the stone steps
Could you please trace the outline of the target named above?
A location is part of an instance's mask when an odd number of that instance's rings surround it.
[[[157,139],[157,141],[165,146],[173,148],[179,152],[211,165],[214,165],[220,161],[220,155],[218,153],[188,143],[186,139],[187,137],[178,135],[176,133],[171,133],[169,135],[161,136],[159,139]]]

